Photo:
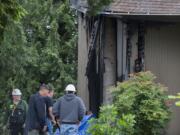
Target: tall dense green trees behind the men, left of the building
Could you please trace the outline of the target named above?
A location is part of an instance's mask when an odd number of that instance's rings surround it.
[[[0,132],[7,122],[4,114],[13,88],[21,89],[28,100],[40,82],[52,84],[56,97],[62,95],[65,85],[76,83],[76,17],[68,0],[23,0],[18,4],[27,14],[6,25],[0,49]]]

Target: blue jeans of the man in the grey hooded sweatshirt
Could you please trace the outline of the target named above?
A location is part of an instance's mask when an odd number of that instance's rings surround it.
[[[77,124],[62,124],[60,135],[78,135]]]

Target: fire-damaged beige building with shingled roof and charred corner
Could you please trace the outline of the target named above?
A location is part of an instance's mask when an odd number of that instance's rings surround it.
[[[78,90],[93,112],[111,102],[109,87],[134,72],[150,70],[170,94],[180,91],[179,0],[114,0],[95,17],[85,1],[75,3]],[[167,134],[179,135],[180,108],[172,110]]]

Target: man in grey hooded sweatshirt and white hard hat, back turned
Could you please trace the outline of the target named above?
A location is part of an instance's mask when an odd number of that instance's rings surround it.
[[[77,135],[78,124],[85,115],[85,105],[75,93],[75,86],[67,85],[65,95],[60,97],[53,106],[53,113],[60,121],[61,135]]]

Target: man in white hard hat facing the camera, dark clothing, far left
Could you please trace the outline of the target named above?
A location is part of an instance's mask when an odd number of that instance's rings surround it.
[[[22,93],[19,89],[13,89],[12,100],[10,105],[9,129],[11,135],[23,135],[25,120],[28,110],[26,101],[21,99]]]

